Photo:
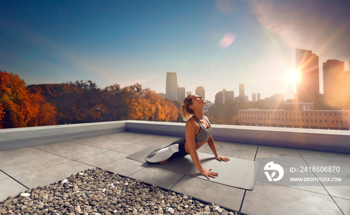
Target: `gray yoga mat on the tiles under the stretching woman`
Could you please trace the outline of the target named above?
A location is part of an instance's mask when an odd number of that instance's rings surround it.
[[[157,148],[159,146],[149,146],[130,154],[126,158],[145,163],[145,157]],[[198,152],[198,156],[203,168],[211,168],[211,171],[218,173],[218,176],[210,178],[210,181],[241,189],[253,190],[259,162],[234,157],[229,157],[230,160],[227,162],[220,162],[215,159],[214,155],[200,152]],[[198,172],[189,154],[184,157],[170,159],[165,164],[152,165],[207,180],[206,177]]]

